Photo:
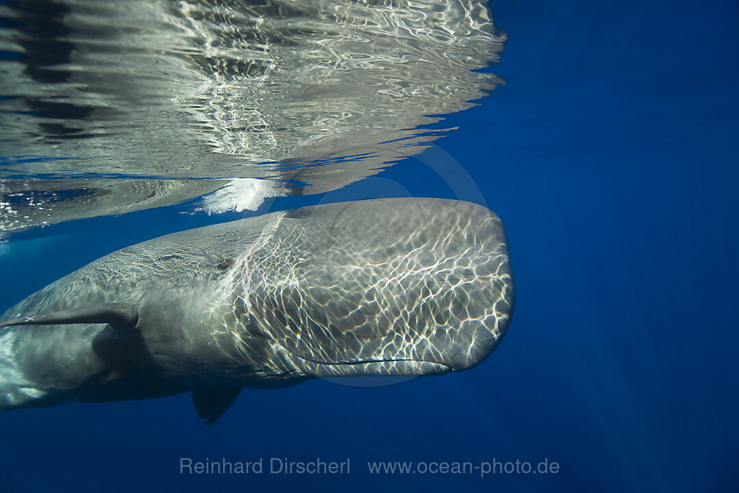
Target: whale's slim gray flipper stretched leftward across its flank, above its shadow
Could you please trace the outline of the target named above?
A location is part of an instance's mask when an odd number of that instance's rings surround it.
[[[0,327],[10,325],[55,324],[110,324],[115,328],[134,328],[138,322],[136,305],[130,303],[105,303],[89,307],[72,308],[56,313],[25,316],[0,322]]]

